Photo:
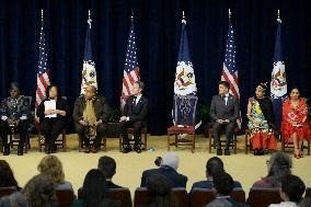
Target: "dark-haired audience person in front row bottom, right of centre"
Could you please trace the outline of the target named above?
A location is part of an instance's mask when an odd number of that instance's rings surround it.
[[[233,191],[234,182],[230,174],[226,172],[219,172],[212,179],[214,189],[216,191],[216,200],[226,199],[233,207],[247,207],[249,205],[235,202],[230,197]]]

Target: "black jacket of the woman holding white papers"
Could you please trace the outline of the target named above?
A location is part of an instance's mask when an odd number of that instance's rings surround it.
[[[38,110],[37,110],[37,117],[39,117],[39,120],[43,122],[46,117],[45,117],[45,105],[44,105],[44,102],[45,101],[48,101],[49,99],[46,99],[44,100],[43,102],[41,102],[39,106],[38,106]],[[57,114],[57,118],[59,120],[62,120],[62,122],[66,122],[69,113],[70,113],[70,110],[69,110],[69,105],[67,103],[66,100],[64,99],[57,99],[57,102],[56,102],[56,110],[61,110],[61,111],[65,111],[66,112],[66,116],[61,116],[59,114]]]

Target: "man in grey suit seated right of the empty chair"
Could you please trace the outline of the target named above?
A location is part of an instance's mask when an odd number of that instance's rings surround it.
[[[217,143],[217,156],[222,156],[220,131],[226,129],[224,156],[230,156],[229,143],[233,138],[233,130],[239,117],[239,103],[229,93],[230,84],[227,81],[218,83],[219,94],[212,96],[209,115],[212,119],[214,138]]]

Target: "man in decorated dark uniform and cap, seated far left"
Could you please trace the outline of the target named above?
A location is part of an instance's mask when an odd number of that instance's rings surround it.
[[[4,147],[3,156],[10,154],[8,135],[10,127],[20,133],[18,156],[23,156],[23,147],[30,128],[30,103],[23,95],[20,95],[18,83],[12,82],[10,96],[4,99],[0,105],[0,137]]]

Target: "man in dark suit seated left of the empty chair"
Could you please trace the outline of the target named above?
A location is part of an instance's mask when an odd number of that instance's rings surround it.
[[[134,127],[134,150],[137,153],[141,152],[140,149],[140,134],[141,128],[146,126],[146,117],[148,113],[148,100],[142,96],[142,90],[145,84],[142,81],[137,81],[133,87],[133,95],[127,97],[126,104],[123,110],[123,116],[119,119],[119,127],[123,137],[123,152],[127,153],[131,151],[131,147],[128,140],[127,128]]]

